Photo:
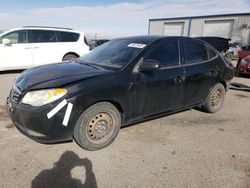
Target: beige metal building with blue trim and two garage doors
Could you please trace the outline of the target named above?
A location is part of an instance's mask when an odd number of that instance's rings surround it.
[[[150,35],[218,36],[250,43],[250,13],[149,19]]]

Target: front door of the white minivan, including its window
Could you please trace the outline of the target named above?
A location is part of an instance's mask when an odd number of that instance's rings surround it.
[[[0,43],[0,69],[24,69],[32,66],[32,49],[28,43],[27,30],[10,32],[1,37],[9,39],[10,44]],[[2,42],[2,41],[0,41]]]

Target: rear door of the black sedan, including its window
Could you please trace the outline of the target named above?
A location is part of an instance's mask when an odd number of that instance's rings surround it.
[[[191,38],[182,41],[182,66],[185,71],[184,106],[201,103],[218,76],[217,53],[203,42]]]

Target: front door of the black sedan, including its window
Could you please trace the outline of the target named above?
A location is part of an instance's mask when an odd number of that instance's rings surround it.
[[[159,62],[154,71],[134,75],[134,116],[147,116],[177,109],[183,97],[183,68],[179,65],[179,45],[174,38],[164,39],[152,46],[144,61]]]

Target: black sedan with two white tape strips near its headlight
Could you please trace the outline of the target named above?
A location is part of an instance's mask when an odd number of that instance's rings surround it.
[[[217,112],[233,68],[187,37],[114,39],[78,59],[24,71],[7,99],[17,129],[40,143],[108,146],[121,126],[201,107]]]

